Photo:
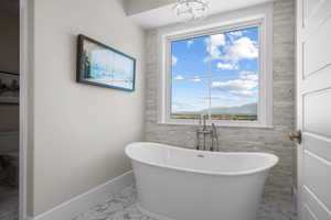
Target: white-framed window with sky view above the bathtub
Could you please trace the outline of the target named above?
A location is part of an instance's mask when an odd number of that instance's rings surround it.
[[[163,122],[270,125],[265,37],[263,22],[167,36]]]

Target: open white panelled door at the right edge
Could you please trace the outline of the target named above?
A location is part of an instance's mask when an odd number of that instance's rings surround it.
[[[297,0],[298,211],[331,220],[331,0]]]

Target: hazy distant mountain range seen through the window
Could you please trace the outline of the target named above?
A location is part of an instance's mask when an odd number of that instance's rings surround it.
[[[231,116],[256,116],[257,114],[257,103],[247,103],[238,107],[214,107],[210,110],[201,111],[178,111],[174,114],[231,114]]]

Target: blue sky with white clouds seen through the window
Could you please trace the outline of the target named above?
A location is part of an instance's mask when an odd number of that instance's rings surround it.
[[[258,101],[258,28],[172,42],[171,111]]]

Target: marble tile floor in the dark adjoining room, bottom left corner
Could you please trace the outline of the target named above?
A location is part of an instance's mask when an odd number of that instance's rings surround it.
[[[0,219],[19,219],[19,189],[0,185]]]

